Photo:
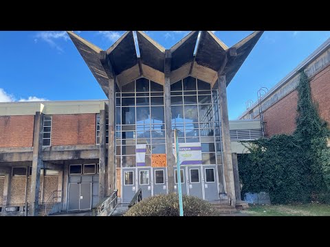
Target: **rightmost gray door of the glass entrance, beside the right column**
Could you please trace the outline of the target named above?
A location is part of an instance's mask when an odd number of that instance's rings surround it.
[[[205,200],[217,200],[219,198],[218,193],[218,181],[217,181],[217,169],[215,165],[203,166],[204,172],[204,191]]]

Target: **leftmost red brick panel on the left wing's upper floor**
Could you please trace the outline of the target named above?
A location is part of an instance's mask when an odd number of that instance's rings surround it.
[[[0,116],[0,148],[29,148],[33,145],[34,115]]]

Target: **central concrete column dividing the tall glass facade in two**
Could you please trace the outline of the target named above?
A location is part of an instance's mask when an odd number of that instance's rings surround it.
[[[172,112],[170,110],[170,50],[165,51],[165,84],[164,84],[164,102],[165,102],[165,126],[166,126],[166,159],[167,159],[167,180],[168,193],[174,192],[174,163],[173,141],[172,141]]]

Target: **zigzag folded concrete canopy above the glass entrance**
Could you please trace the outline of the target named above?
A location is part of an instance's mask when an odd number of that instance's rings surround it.
[[[106,95],[109,78],[115,78],[120,89],[142,76],[164,84],[165,49],[144,32],[136,32],[140,58],[137,57],[133,31],[126,32],[107,51],[74,32],[67,33]],[[214,86],[218,73],[221,73],[226,75],[228,86],[262,34],[256,31],[229,48],[210,31],[200,32],[198,44],[199,32],[190,32],[169,49],[170,83],[190,75]],[[231,50],[234,50],[234,56],[228,55]]]

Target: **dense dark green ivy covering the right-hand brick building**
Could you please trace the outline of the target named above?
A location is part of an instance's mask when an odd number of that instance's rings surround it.
[[[270,193],[272,203],[330,203],[330,130],[311,99],[305,72],[298,84],[298,115],[292,135],[278,134],[245,142],[250,154],[239,156],[239,175],[246,192]]]

